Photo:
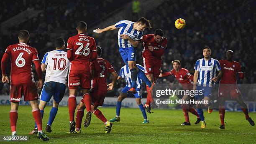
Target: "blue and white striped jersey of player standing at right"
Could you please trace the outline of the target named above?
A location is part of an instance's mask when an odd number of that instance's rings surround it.
[[[195,64],[195,70],[199,71],[197,84],[211,87],[212,78],[216,77],[216,71],[219,71],[220,63],[218,60],[210,58],[210,60],[199,59]]]

